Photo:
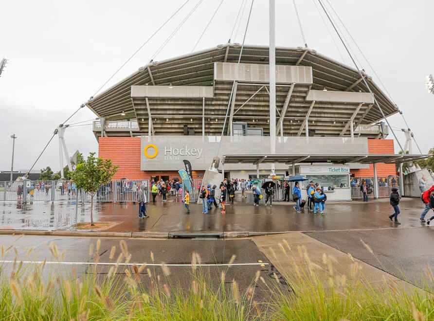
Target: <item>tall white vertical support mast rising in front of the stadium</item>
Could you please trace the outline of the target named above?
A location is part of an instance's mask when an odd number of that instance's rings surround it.
[[[270,3],[270,154],[276,153],[276,24],[275,0]],[[282,128],[283,129],[283,128]],[[271,164],[271,176],[275,175],[274,164]]]

